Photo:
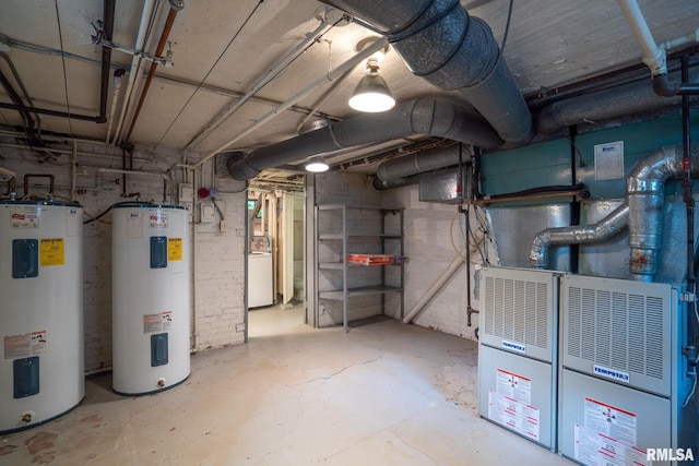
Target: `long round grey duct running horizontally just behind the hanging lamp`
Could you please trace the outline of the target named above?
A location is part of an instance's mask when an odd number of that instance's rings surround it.
[[[431,135],[495,148],[502,140],[482,118],[466,107],[439,98],[401,103],[383,113],[365,113],[228,160],[228,172],[240,181],[262,170],[363,144]]]

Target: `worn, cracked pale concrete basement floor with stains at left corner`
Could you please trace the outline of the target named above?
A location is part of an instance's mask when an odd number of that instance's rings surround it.
[[[392,319],[312,330],[300,312],[251,311],[248,344],[192,356],[156,395],[88,378],[66,416],[0,437],[0,465],[573,464],[477,416],[474,342]]]

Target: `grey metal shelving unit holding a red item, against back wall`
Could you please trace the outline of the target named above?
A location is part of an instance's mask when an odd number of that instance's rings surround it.
[[[378,225],[353,225],[354,218],[352,218],[353,212],[377,212],[379,215],[377,218]],[[328,218],[325,215],[334,215],[336,222],[330,222],[328,225]],[[391,225],[387,225],[387,216],[398,215],[398,222],[392,222]],[[374,228],[374,230],[366,230]],[[336,252],[336,260],[328,260],[327,258],[318,256],[316,261],[316,315],[319,313],[320,300],[335,300],[342,301],[342,324],[345,332],[348,331],[348,315],[347,308],[351,298],[358,296],[381,295],[381,314],[386,311],[386,295],[389,292],[400,294],[400,316],[403,318],[404,299],[403,299],[403,284],[404,272],[403,262],[384,265],[358,265],[350,264],[346,261],[348,251],[347,247],[350,241],[362,241],[366,239],[367,244],[371,244],[372,248],[378,248],[378,251],[363,251],[366,253],[390,253],[393,252],[395,256],[404,256],[404,242],[403,242],[403,210],[390,208],[390,207],[372,207],[372,206],[354,206],[346,204],[320,204],[316,206],[316,249],[320,249],[321,244],[327,244],[328,248]],[[354,274],[355,270],[381,267],[380,280],[376,284],[353,286],[351,282],[351,274]],[[398,284],[389,285],[387,283],[386,267],[399,267]],[[323,272],[330,274],[341,274],[342,286],[335,289],[320,290],[318,280],[319,276]],[[335,277],[336,278],[336,277]]]

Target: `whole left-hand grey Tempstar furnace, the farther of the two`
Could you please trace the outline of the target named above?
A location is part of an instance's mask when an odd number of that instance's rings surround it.
[[[558,277],[481,271],[478,414],[556,450]]]

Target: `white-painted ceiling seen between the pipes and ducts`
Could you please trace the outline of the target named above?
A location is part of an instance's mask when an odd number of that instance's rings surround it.
[[[311,41],[305,52],[250,101],[187,150],[208,124],[319,26],[319,15],[328,7],[315,0],[183,1],[185,8],[177,14],[168,37],[174,65],[157,67],[128,141],[126,133],[133,120],[133,103],[126,111],[121,131],[117,134],[116,130],[120,126],[130,73],[122,79],[117,93],[111,76],[109,79],[107,111],[109,113],[114,104],[115,115],[108,122],[42,115],[40,130],[115,144],[129,142],[177,157],[187,154],[188,160],[197,163],[222,147],[249,151],[294,138],[310,109],[317,106],[318,116],[331,120],[355,115],[346,101],[364,74],[362,64],[327,100],[321,103],[332,83],[320,86],[289,109],[279,111],[259,129],[237,138],[272,112],[276,105],[322,80],[330,70],[353,57],[356,43],[374,34],[357,24],[347,24],[331,27]],[[147,53],[154,53],[169,11],[168,1],[156,3],[154,27],[145,47]],[[471,15],[488,23],[500,44],[510,0],[461,3]],[[697,0],[639,0],[639,4],[659,44],[695,33],[699,27]],[[86,116],[99,112],[102,47],[93,44],[91,36],[95,34],[93,24],[103,19],[103,7],[97,0],[0,1],[0,34],[7,36],[0,41],[9,46],[0,45],[0,49],[4,49],[15,67],[34,107]],[[144,0],[116,0],[114,43],[127,48],[137,46],[143,8]],[[335,17],[332,12],[325,14],[329,19]],[[521,93],[533,101],[542,89],[555,95],[558,88],[574,88],[577,83],[637,65],[641,63],[642,52],[616,1],[513,0],[503,56]],[[112,72],[117,68],[131,70],[131,55],[112,52]],[[138,77],[132,93],[134,103],[149,68],[150,62],[144,60],[140,72],[134,74],[134,79]],[[21,85],[7,60],[0,60],[0,71],[20,93]],[[463,100],[454,92],[439,91],[412,75],[395,51],[389,51],[381,63],[381,74],[399,101],[423,95],[447,95]],[[20,94],[28,104],[27,96]],[[0,88],[0,103],[11,103],[3,88]],[[0,127],[15,130],[22,124],[19,111],[0,108]],[[111,136],[117,134],[116,141],[112,138],[107,141],[108,130]],[[228,145],[234,139],[237,141]],[[394,145],[384,144],[380,148]],[[336,156],[335,162],[351,162],[376,151],[351,151]]]

